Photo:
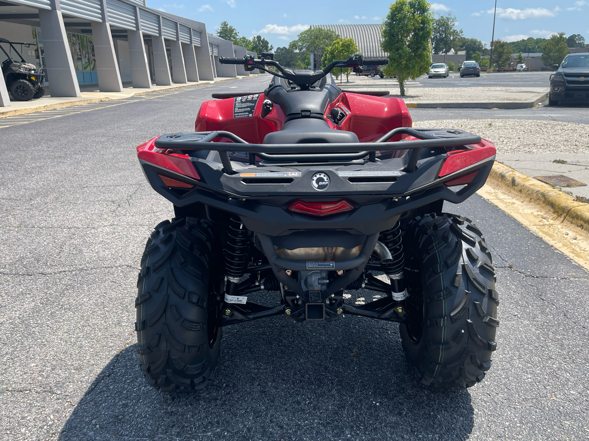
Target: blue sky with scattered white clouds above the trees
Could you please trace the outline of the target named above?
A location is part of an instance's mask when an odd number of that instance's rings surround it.
[[[286,46],[312,24],[381,23],[389,6],[389,2],[378,0],[174,1],[147,0],[147,5],[204,22],[211,33],[226,20],[240,35],[260,34],[274,48]],[[493,8],[494,1],[490,0],[432,2],[432,11],[452,12],[465,36],[487,44],[491,41]],[[548,37],[552,32],[581,34],[589,43],[589,0],[498,0],[495,38],[516,41],[528,36]]]

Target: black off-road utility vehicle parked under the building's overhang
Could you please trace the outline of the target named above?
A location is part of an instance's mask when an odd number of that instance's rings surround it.
[[[7,45],[8,52],[6,52],[3,46],[4,44]],[[34,64],[27,63],[14,45],[31,46],[30,43],[18,43],[0,38],[0,49],[8,57],[2,62],[2,75],[4,75],[6,88],[16,101],[29,101],[32,98],[41,98],[45,94],[43,69],[37,69],[37,66]],[[14,51],[21,61],[15,61],[12,58],[12,51]]]

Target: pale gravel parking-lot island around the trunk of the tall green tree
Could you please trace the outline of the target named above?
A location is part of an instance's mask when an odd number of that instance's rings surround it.
[[[545,87],[440,87],[423,88],[419,82],[407,82],[405,96],[399,95],[399,83],[392,78],[351,76],[350,81],[338,83],[350,91],[385,89],[402,98],[409,108],[479,108],[525,109],[544,101]]]

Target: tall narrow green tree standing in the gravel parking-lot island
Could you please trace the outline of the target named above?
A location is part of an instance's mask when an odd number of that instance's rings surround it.
[[[431,65],[432,14],[426,0],[396,0],[382,24],[382,49],[389,53],[383,74],[397,76],[401,96],[405,82],[425,74]]]

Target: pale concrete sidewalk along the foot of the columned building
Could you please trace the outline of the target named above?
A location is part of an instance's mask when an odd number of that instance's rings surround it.
[[[216,78],[214,81],[187,82],[183,84],[173,84],[171,86],[151,86],[151,89],[133,88],[130,83],[124,83],[123,92],[100,92],[98,85],[84,86],[80,85],[81,96],[73,98],[53,97],[51,89],[48,88],[47,95],[31,101],[11,101],[8,107],[0,107],[0,118],[7,116],[24,115],[25,113],[41,112],[51,109],[57,109],[68,106],[77,106],[91,102],[107,101],[110,99],[124,99],[135,95],[144,95],[145,93],[168,91],[190,86],[201,86],[206,84],[229,81],[230,79],[250,78],[257,75],[238,76],[237,78]]]

